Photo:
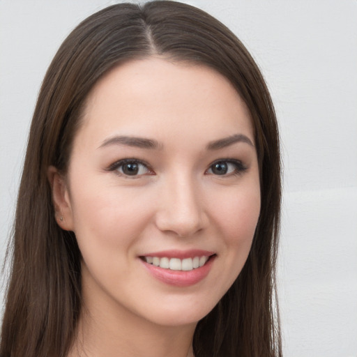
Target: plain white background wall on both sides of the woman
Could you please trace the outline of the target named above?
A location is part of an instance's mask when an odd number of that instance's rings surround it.
[[[45,70],[74,26],[114,2],[0,0],[0,261]],[[188,3],[241,38],[278,113],[284,356],[357,357],[357,1]]]

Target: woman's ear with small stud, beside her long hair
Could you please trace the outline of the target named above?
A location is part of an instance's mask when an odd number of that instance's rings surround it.
[[[52,202],[56,222],[62,229],[73,231],[73,211],[70,204],[68,185],[62,174],[54,166],[47,169],[47,179],[50,181],[52,190]]]

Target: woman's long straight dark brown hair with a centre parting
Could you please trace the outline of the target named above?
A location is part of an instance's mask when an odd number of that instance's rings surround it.
[[[47,70],[33,114],[17,199],[1,357],[66,357],[81,310],[81,255],[54,218],[47,169],[66,173],[89,91],[114,66],[153,54],[224,75],[255,128],[261,212],[248,260],[218,305],[199,321],[196,357],[282,356],[275,296],[280,151],[271,97],[252,57],[226,26],[172,1],[121,3],[84,20]]]

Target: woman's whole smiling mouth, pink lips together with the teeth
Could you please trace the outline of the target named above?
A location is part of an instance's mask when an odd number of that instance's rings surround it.
[[[141,256],[140,260],[146,270],[160,282],[188,287],[206,278],[215,257],[214,252],[205,250],[169,250],[151,252]]]

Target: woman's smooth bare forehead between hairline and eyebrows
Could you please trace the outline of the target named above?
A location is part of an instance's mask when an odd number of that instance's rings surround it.
[[[82,124],[79,135],[91,132],[98,140],[113,134],[219,139],[241,132],[254,142],[248,109],[227,78],[206,66],[154,57],[102,77],[86,100]]]

